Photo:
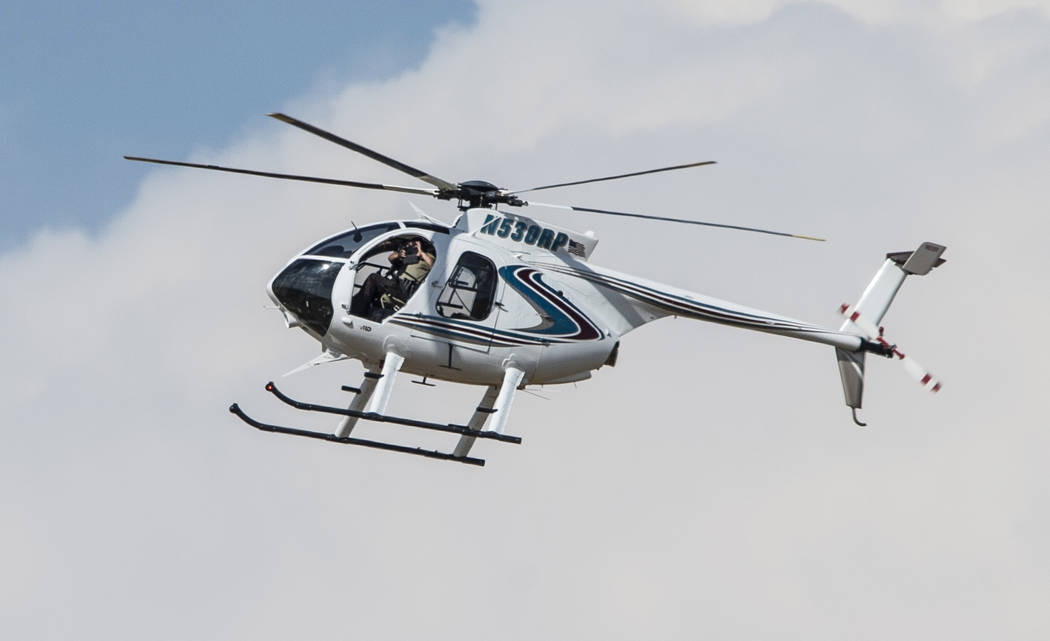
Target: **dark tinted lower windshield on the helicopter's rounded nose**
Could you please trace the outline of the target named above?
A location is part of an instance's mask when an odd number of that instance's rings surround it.
[[[270,283],[277,303],[318,336],[332,323],[332,287],[341,263],[299,259]]]

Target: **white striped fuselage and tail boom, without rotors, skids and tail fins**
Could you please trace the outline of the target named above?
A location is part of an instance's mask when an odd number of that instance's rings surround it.
[[[397,248],[416,241],[433,253],[426,277],[403,299],[355,313],[370,275],[382,277]],[[289,325],[333,356],[376,371],[394,353],[401,371],[472,385],[499,385],[511,366],[523,385],[589,378],[615,364],[623,334],[667,315],[860,347],[854,334],[591,266],[596,244],[592,234],[470,209],[450,227],[404,221],[348,230],[293,259],[269,292]]]

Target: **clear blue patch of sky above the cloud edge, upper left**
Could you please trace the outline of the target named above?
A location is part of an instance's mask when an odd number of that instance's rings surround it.
[[[0,249],[98,231],[134,194],[124,154],[229,144],[266,105],[396,75],[474,16],[466,0],[4,2]]]

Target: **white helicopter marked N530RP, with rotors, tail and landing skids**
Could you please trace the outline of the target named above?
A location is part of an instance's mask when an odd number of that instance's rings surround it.
[[[362,153],[428,183],[432,188],[399,187],[309,175],[255,171],[217,165],[125,156],[127,160],[246,173],[267,178],[381,189],[456,200],[461,214],[446,225],[420,220],[392,221],[346,231],[312,245],[293,257],[267,291],[288,327],[320,342],[322,353],[300,369],[354,358],[364,366],[349,408],[307,404],[266,389],[306,411],[339,415],[334,433],[264,423],[236,404],[230,411],[259,430],[403,452],[483,466],[468,456],[478,438],[520,443],[505,434],[516,391],[526,386],[576,382],[591,371],[613,366],[620,339],[664,316],[684,316],[821,343],[835,348],[845,404],[857,410],[868,352],[900,359],[926,389],[941,384],[883,337],[879,326],[908,275],[923,275],[944,263],[944,247],[923,243],[910,252],[889,253],[856,305],[842,305],[839,329],[803,323],[669,285],[592,265],[596,237],[544,223],[500,206],[540,206],[573,211],[722,227],[800,237],[768,229],[722,225],[624,211],[526,202],[519,194],[569,185],[610,181],[713,164],[690,163],[530,189],[507,190],[484,181],[453,183],[342,139],[284,113],[271,117]],[[464,425],[390,416],[385,413],[398,372],[485,387],[481,402]],[[489,417],[491,425],[485,429]],[[412,448],[352,437],[358,420],[459,434],[452,452]]]

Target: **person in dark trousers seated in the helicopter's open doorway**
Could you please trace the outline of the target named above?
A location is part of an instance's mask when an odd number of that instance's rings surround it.
[[[391,268],[385,274],[377,271],[364,280],[350,305],[350,313],[376,320],[393,313],[395,306],[403,305],[426,280],[426,274],[434,267],[434,254],[423,249],[419,239],[405,241],[386,256]]]

